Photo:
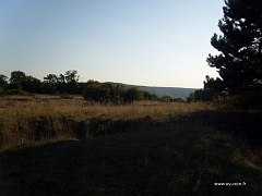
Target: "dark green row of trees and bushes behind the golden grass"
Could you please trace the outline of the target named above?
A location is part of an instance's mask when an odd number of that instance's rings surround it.
[[[56,95],[83,95],[86,100],[97,102],[133,102],[136,100],[157,100],[165,102],[184,102],[181,98],[170,96],[158,97],[150,91],[138,87],[114,83],[99,83],[90,79],[86,83],[79,82],[78,71],[70,70],[64,74],[48,74],[44,81],[26,75],[22,71],[11,72],[10,78],[0,74],[0,96],[3,95],[28,95],[28,94],[56,94]],[[67,96],[64,96],[67,97]]]

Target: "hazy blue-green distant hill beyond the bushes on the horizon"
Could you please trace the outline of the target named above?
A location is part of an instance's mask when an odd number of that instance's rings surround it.
[[[129,85],[129,84],[122,84],[122,83],[114,83],[114,84],[123,85],[127,88],[135,86],[141,90],[150,91],[151,94],[155,94],[158,97],[170,96],[172,98],[183,98],[183,99],[186,99],[190,93],[196,89],[196,88],[180,88],[180,87],[138,86],[138,85]]]

